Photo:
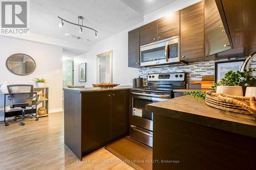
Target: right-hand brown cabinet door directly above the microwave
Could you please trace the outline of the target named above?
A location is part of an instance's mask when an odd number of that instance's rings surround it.
[[[158,40],[180,35],[180,11],[157,20]]]

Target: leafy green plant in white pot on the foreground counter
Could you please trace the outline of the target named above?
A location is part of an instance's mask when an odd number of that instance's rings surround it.
[[[246,87],[256,86],[256,78],[250,76],[250,72],[253,71],[255,70],[237,72],[230,70],[220,82],[214,83],[211,88],[216,90],[217,93],[243,96],[245,95]]]

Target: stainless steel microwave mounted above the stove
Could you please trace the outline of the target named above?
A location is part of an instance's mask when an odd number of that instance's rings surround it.
[[[180,36],[140,46],[140,66],[180,62]]]

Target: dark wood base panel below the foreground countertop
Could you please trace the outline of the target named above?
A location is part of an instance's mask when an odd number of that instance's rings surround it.
[[[221,126],[221,125],[220,125]],[[256,139],[154,114],[153,169],[256,169]]]

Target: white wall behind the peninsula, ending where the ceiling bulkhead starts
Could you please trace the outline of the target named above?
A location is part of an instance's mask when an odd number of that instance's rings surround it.
[[[82,54],[74,58],[74,84],[86,85],[92,87],[97,83],[97,58],[98,54],[113,50],[113,83],[120,85],[132,85],[134,78],[138,77],[139,70],[137,68],[128,67],[128,31],[137,27],[124,30],[116,35],[106,38],[93,44],[88,53]],[[79,82],[78,65],[87,63],[87,82]]]

